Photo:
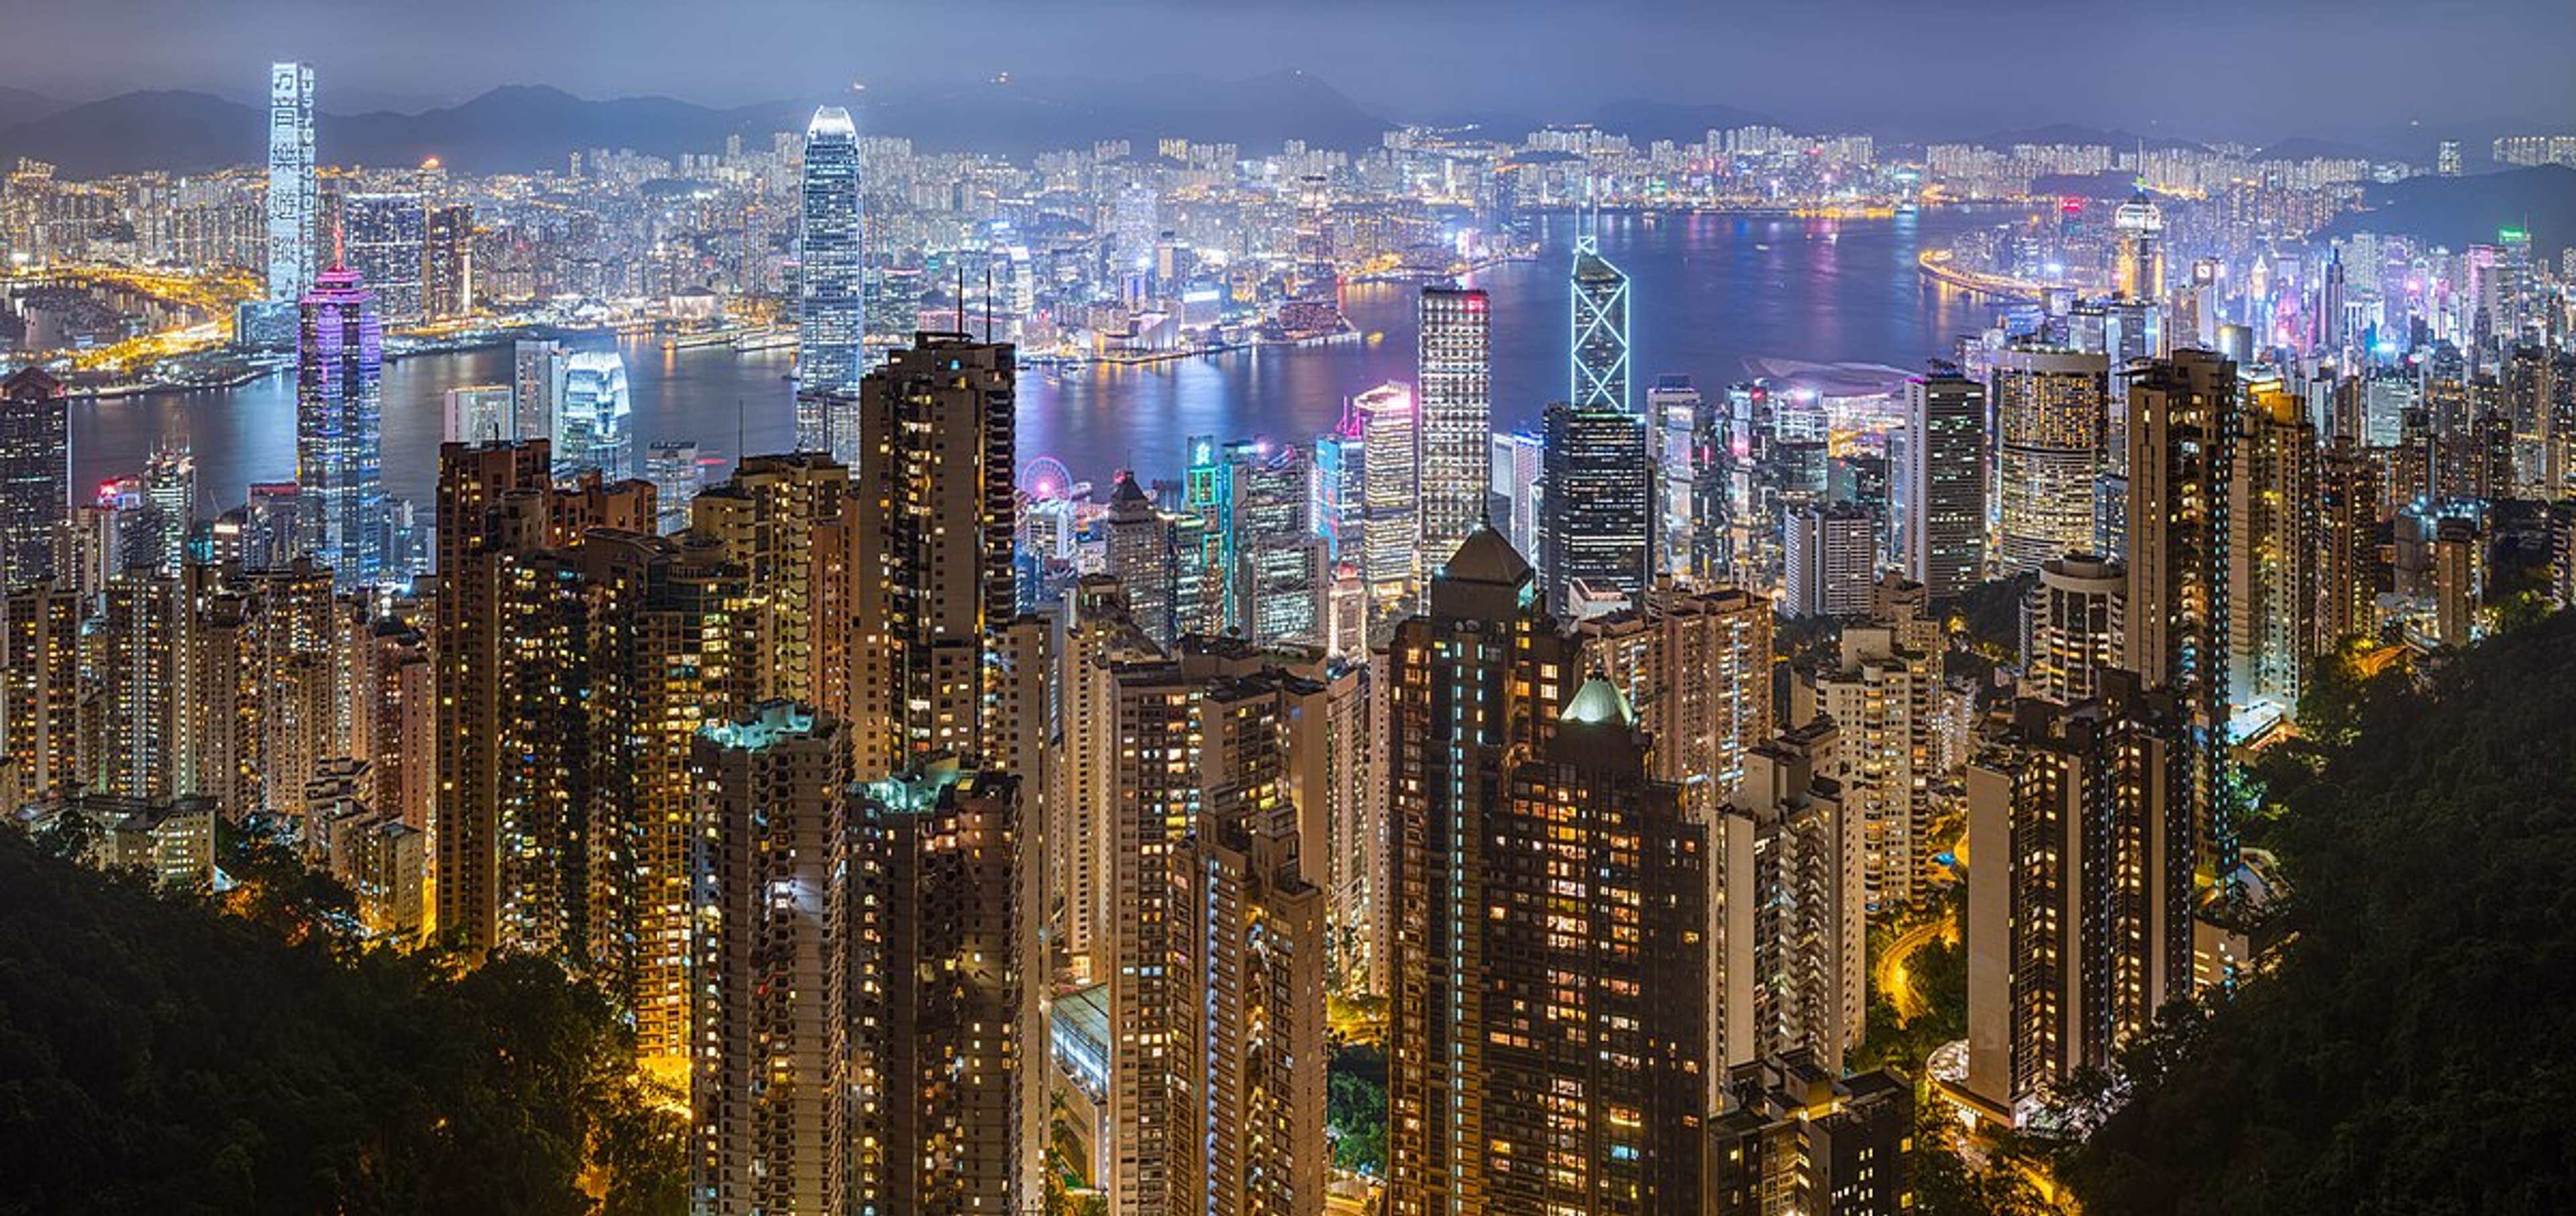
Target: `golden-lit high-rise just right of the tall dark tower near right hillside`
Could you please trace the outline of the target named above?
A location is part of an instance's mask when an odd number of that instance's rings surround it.
[[[2298,711],[2316,654],[2316,428],[2280,381],[2239,386],[2228,477],[2228,701],[2254,721]]]

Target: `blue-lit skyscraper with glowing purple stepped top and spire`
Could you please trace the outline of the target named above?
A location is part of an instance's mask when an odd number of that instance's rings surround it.
[[[384,575],[384,332],[376,294],[332,265],[301,304],[296,345],[296,489],[314,562],[340,590]]]

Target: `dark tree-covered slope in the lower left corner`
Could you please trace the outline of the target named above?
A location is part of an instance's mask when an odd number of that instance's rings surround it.
[[[227,904],[0,830],[0,1213],[680,1211],[685,1126],[598,992]]]

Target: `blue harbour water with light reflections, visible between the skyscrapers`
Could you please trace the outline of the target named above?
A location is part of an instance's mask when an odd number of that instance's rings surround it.
[[[1994,216],[1775,219],[1726,214],[1602,216],[1602,252],[1631,276],[1638,399],[1659,374],[1703,389],[1747,376],[1747,358],[1917,366],[1986,325],[1986,304],[1917,276],[1914,255]],[[1533,263],[1471,278],[1494,299],[1494,425],[1535,423],[1566,397],[1569,222],[1546,232]],[[1054,456],[1108,487],[1118,469],[1177,477],[1188,435],[1311,441],[1342,399],[1414,374],[1414,289],[1363,283],[1342,307],[1360,340],[1275,345],[1149,366],[1030,368],[1020,374],[1020,459]],[[611,340],[595,343],[608,348]],[[665,353],[623,340],[636,469],[659,441],[698,441],[732,459],[793,448],[786,350]],[[384,374],[386,492],[428,508],[438,477],[440,394],[507,384],[507,350],[397,361]],[[142,469],[157,443],[185,443],[198,510],[242,502],[250,482],[294,479],[294,376],[224,392],[72,402],[72,484]]]

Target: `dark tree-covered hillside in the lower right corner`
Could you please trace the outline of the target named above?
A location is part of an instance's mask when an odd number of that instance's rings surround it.
[[[2277,974],[2123,1061],[2061,1167],[2087,1213],[2568,1211],[2576,613],[2349,708],[2272,824]]]

